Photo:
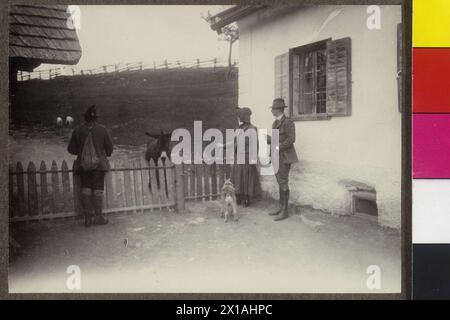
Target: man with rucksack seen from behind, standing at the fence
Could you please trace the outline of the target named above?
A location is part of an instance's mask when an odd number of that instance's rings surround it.
[[[107,157],[113,152],[113,143],[106,128],[97,123],[95,105],[90,106],[84,113],[85,123],[76,127],[72,132],[67,150],[77,156],[74,163],[75,174],[80,176],[81,204],[83,207],[85,226],[107,224],[108,219],[102,212],[105,173],[110,169]],[[88,137],[92,139],[87,141]],[[91,142],[87,144],[85,142]],[[83,166],[83,149],[93,146],[95,155],[92,156],[93,166],[87,169]]]

